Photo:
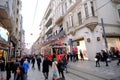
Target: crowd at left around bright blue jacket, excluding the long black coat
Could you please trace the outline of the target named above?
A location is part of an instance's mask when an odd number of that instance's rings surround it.
[[[5,61],[4,57],[0,58],[0,80],[3,80],[3,72],[6,71],[6,80],[10,80],[11,74],[14,80],[27,80],[27,73],[30,67],[30,62],[34,67],[34,56],[18,56]],[[40,69],[39,57],[36,58]],[[40,62],[40,63],[39,63]]]

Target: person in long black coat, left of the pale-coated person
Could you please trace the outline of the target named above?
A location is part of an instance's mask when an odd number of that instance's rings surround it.
[[[48,80],[48,73],[49,73],[49,63],[50,61],[48,60],[47,57],[44,58],[43,63],[42,63],[42,72],[45,77],[45,80]]]

